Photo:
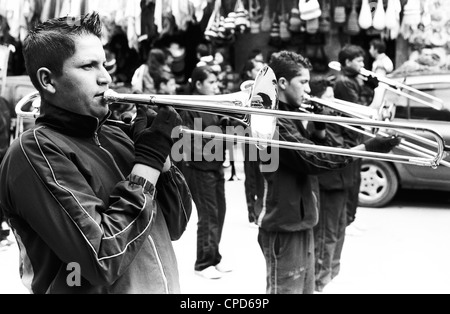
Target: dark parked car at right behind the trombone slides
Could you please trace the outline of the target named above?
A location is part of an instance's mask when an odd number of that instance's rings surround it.
[[[397,97],[395,118],[392,122],[433,129],[450,144],[450,73],[408,75],[391,79],[444,101],[443,109],[436,110],[407,97]],[[410,132],[424,135],[423,132]],[[394,149],[393,153],[397,152],[406,154]],[[444,160],[450,162],[450,157]],[[450,167],[442,165],[433,169],[427,166],[365,159],[361,174],[359,205],[364,207],[388,205],[399,189],[450,191]]]

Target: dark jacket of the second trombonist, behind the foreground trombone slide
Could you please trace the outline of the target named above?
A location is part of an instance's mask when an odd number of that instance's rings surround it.
[[[279,109],[296,111],[280,102]],[[331,137],[313,138],[303,124],[293,119],[278,119],[277,132],[280,141],[341,146]],[[313,228],[318,222],[319,185],[318,174],[343,168],[351,157],[305,150],[279,150],[279,166],[274,172],[263,172],[264,198],[258,210],[258,225],[269,232],[296,232]]]

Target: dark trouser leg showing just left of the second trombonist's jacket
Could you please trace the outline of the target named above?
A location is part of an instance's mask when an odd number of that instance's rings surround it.
[[[255,222],[259,213],[255,211],[255,203],[264,196],[264,177],[259,170],[258,161],[244,161],[245,197],[247,199],[248,220]]]

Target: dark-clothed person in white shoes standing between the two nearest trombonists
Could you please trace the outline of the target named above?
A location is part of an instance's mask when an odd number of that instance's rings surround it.
[[[215,72],[209,66],[196,67],[191,77],[193,95],[216,95],[219,86]],[[221,117],[202,112],[182,111],[183,122],[189,129],[204,131],[206,128],[221,129]],[[199,129],[201,128],[201,129]],[[225,222],[225,158],[223,143],[221,152],[211,149],[210,138],[191,139],[190,151],[185,151],[183,173],[192,192],[198,213],[197,259],[195,273],[207,279],[219,279],[231,271],[222,261],[219,252]],[[209,146],[209,148],[206,148]]]

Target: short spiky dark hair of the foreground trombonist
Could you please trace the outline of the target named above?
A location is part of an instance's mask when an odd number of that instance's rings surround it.
[[[39,88],[36,73],[48,68],[61,76],[64,61],[74,55],[76,36],[92,34],[101,38],[102,25],[98,13],[79,18],[70,16],[47,20],[29,31],[23,43],[25,68],[31,82]]]

